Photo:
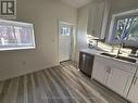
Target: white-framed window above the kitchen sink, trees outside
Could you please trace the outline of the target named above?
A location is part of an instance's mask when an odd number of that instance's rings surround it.
[[[124,42],[126,47],[138,48],[138,9],[112,16],[108,41],[112,44]]]

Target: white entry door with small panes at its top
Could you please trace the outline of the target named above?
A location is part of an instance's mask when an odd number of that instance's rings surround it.
[[[66,23],[59,23],[59,62],[71,59],[71,35],[73,27]]]

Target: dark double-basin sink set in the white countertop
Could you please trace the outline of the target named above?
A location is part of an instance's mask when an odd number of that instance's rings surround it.
[[[105,55],[105,56],[109,56],[109,57],[114,57],[114,59],[118,59],[118,60],[123,60],[123,61],[127,61],[127,62],[130,62],[130,63],[136,63],[137,60],[135,59],[131,59],[131,57],[128,57],[128,56],[121,56],[121,55],[115,55],[115,54],[111,54],[111,53],[100,53],[101,55]]]

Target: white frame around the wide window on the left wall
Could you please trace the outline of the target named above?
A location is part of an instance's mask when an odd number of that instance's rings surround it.
[[[15,21],[7,21],[7,20],[0,20],[0,25],[8,25],[8,26],[21,26],[21,27],[30,27],[32,31],[32,46],[0,46],[0,51],[9,51],[9,50],[27,50],[27,49],[35,49],[35,34],[34,34],[34,24],[32,23],[23,23],[23,22],[15,22]]]

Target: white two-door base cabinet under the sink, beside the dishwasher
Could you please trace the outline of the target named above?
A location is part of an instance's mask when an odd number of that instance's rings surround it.
[[[92,77],[126,98],[136,67],[117,60],[95,56]]]

